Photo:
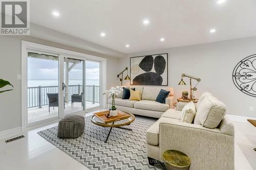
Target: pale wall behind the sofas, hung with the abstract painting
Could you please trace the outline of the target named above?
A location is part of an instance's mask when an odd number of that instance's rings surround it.
[[[237,63],[256,54],[256,37],[132,54],[120,59],[120,70],[127,66],[130,72],[130,57],[160,53],[168,53],[168,84],[174,87],[176,98],[183,90],[189,91],[189,79],[184,78],[186,86],[177,85],[184,73],[201,78],[196,98],[209,91],[226,104],[227,114],[256,117],[256,98],[241,92],[232,81],[232,71]],[[129,83],[125,82],[125,85]],[[254,111],[249,111],[250,106]]]

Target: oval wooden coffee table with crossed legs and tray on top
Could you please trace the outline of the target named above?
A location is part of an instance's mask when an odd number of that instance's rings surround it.
[[[132,129],[123,127],[130,125],[134,122],[135,116],[132,113],[125,113],[118,110],[118,116],[110,118],[106,117],[104,113],[105,112],[94,113],[94,115],[91,117],[91,122],[97,126],[110,128],[109,134],[105,139],[105,143],[109,139],[112,128],[119,128],[132,131]]]

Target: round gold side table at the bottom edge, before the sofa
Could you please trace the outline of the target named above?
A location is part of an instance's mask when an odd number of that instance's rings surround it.
[[[191,161],[190,158],[176,150],[167,150],[163,153],[164,165],[168,170],[189,169]]]

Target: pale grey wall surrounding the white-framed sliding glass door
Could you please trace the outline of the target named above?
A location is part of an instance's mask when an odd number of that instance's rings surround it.
[[[0,95],[0,133],[22,126],[21,81],[16,80],[16,76],[21,74],[21,40],[106,58],[107,88],[119,83],[115,76],[119,72],[118,59],[115,57],[29,36],[0,36],[0,78],[10,81],[14,86],[13,91]]]

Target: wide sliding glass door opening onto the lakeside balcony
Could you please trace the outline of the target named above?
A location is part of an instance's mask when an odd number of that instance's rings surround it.
[[[101,106],[101,62],[30,51],[27,126]]]

